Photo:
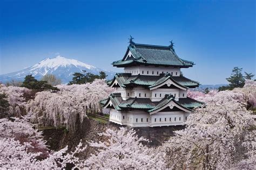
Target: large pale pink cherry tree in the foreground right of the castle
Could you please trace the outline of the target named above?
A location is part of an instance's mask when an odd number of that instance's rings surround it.
[[[237,140],[246,143],[240,137],[255,124],[245,107],[248,97],[242,93],[244,89],[237,90],[239,93],[227,90],[205,97],[205,107],[194,111],[187,127],[163,145],[169,168],[224,169],[235,164]]]

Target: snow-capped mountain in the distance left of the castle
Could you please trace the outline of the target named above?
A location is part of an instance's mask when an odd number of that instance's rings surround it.
[[[56,56],[55,58],[46,58],[36,65],[25,68],[18,72],[8,73],[0,75],[0,82],[6,82],[10,80],[23,81],[26,75],[32,74],[37,80],[40,80],[45,74],[56,75],[62,80],[62,83],[68,83],[72,80],[73,73],[82,73],[82,70],[90,72],[92,74],[99,74],[100,71],[105,72],[108,76],[107,79],[112,79],[114,72],[103,70],[92,65],[87,65],[86,63],[67,59],[63,56]]]

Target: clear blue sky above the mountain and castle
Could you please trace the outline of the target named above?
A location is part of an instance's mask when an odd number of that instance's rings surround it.
[[[0,74],[57,54],[122,72],[130,35],[175,42],[201,84],[227,83],[233,67],[255,74],[255,1],[0,1]]]

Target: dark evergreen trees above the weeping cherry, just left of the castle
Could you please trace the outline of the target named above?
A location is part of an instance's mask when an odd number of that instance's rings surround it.
[[[92,73],[86,73],[86,70],[83,70],[83,72],[85,74],[74,73],[72,81],[69,82],[69,85],[91,83],[91,82],[95,81],[96,79],[106,79],[106,76],[107,76],[105,72],[99,72],[99,75],[95,75]]]

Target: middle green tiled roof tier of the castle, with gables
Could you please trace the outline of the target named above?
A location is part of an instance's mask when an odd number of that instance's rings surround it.
[[[156,76],[152,75],[131,75],[131,73],[117,73],[114,79],[110,83],[110,87],[114,82],[117,82],[120,87],[129,86],[145,86],[147,88],[153,88],[163,84],[167,80],[171,80],[173,83],[183,88],[194,88],[199,86],[199,82],[187,79],[184,76],[172,76],[170,73],[160,74]]]

